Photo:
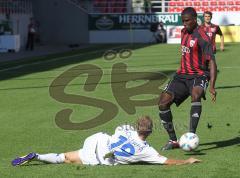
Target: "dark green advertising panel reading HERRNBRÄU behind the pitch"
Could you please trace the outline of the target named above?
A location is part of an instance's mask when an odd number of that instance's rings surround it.
[[[89,30],[124,30],[149,29],[153,23],[164,25],[182,25],[181,14],[89,14]],[[198,23],[203,22],[202,14],[198,14]]]

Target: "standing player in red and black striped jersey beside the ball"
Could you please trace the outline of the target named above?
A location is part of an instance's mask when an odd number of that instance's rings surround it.
[[[181,31],[181,65],[161,93],[158,104],[161,122],[169,135],[169,141],[162,150],[179,147],[170,109],[173,103],[179,106],[191,96],[189,131],[195,133],[202,111],[201,98],[205,99],[209,80],[212,101],[216,100],[217,65],[211,41],[203,27],[198,26],[194,8],[185,8],[181,16],[184,25]]]

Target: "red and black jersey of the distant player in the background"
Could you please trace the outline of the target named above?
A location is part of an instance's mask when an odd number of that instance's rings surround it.
[[[222,31],[218,25],[215,25],[212,23],[209,26],[206,26],[205,24],[203,24],[202,26],[213,44],[213,52],[215,53],[216,52],[216,42],[215,42],[216,35],[218,34],[222,36]]]

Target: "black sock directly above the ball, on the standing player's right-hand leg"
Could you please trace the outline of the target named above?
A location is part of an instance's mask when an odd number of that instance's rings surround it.
[[[192,133],[196,132],[198,121],[200,119],[202,112],[201,102],[192,102],[192,107],[190,111],[190,127],[189,131]]]

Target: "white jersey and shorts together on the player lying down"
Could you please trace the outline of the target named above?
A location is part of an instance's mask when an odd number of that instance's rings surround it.
[[[112,152],[114,159],[104,156]],[[163,164],[167,158],[139,138],[138,133],[130,125],[116,128],[114,135],[99,132],[84,141],[79,150],[79,157],[87,165],[116,165],[146,162]]]

